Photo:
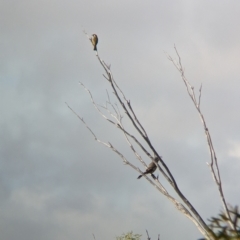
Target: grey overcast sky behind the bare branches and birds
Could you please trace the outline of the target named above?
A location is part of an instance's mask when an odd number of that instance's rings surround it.
[[[111,64],[154,147],[207,221],[222,205],[206,164],[200,119],[165,54],[176,58],[177,46],[196,93],[203,85],[201,108],[226,200],[238,205],[239,12],[236,0],[0,0],[1,239],[93,240],[94,234],[111,240],[131,230],[146,239],[145,229],[151,239],[201,237],[67,108],[65,102],[100,139],[144,170],[79,85],[99,104],[105,104],[106,89],[112,92],[83,29],[98,35],[100,57]]]

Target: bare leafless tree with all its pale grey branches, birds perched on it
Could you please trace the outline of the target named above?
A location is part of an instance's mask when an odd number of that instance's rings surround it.
[[[91,38],[87,35],[86,36],[91,41]],[[201,103],[201,92],[202,92],[202,86],[199,89],[199,94],[196,96],[194,87],[190,84],[190,82],[187,80],[182,63],[181,63],[181,57],[175,47],[175,52],[177,55],[177,60],[174,60],[171,56],[167,55],[168,59],[174,64],[174,66],[179,71],[181,78],[183,80],[183,83],[186,86],[187,93],[192,100],[203,125],[203,129],[206,135],[207,139],[207,145],[210,152],[210,163],[208,163],[208,166],[210,168],[211,174],[213,176],[213,179],[216,183],[216,186],[218,188],[220,198],[223,203],[223,207],[225,210],[225,214],[228,216],[228,223],[229,226],[234,229],[233,220],[231,219],[231,214],[228,209],[228,206],[226,204],[225,196],[223,193],[222,188],[222,182],[220,177],[220,171],[218,167],[218,160],[217,156],[214,150],[213,142],[211,139],[210,132],[208,130],[204,115],[200,109],[200,103]],[[101,139],[99,139],[96,134],[92,131],[92,129],[87,125],[87,123],[83,120],[82,117],[80,117],[67,103],[67,106],[69,109],[76,114],[76,116],[82,121],[82,123],[85,125],[85,127],[89,130],[89,132],[93,135],[94,139],[104,146],[108,147],[112,151],[114,151],[116,154],[120,156],[123,163],[133,168],[135,171],[139,172],[143,177],[146,178],[146,180],[153,185],[161,194],[163,194],[172,204],[187,218],[189,218],[195,226],[198,228],[198,230],[201,232],[201,234],[206,239],[214,239],[214,237],[211,234],[211,231],[206,224],[206,222],[202,219],[200,214],[197,212],[197,210],[194,208],[194,206],[190,203],[190,201],[184,196],[183,192],[181,191],[180,187],[178,186],[178,183],[176,182],[171,170],[167,166],[166,162],[163,160],[161,155],[156,151],[155,147],[153,146],[151,140],[148,137],[148,134],[141,124],[140,120],[138,119],[136,113],[134,112],[130,100],[128,100],[124,94],[124,92],[120,89],[117,82],[115,81],[113,74],[111,72],[111,66],[106,64],[104,60],[102,60],[99,57],[98,52],[96,51],[96,57],[101,66],[103,67],[105,74],[103,75],[108,84],[110,85],[111,89],[113,90],[113,94],[115,98],[117,99],[118,103],[121,105],[121,110],[118,108],[117,104],[113,104],[111,101],[111,98],[109,94],[107,93],[107,101],[105,106],[99,105],[94,101],[94,98],[91,94],[91,91],[83,84],[80,83],[80,85],[86,90],[86,92],[89,94],[89,97],[92,101],[93,106],[98,111],[101,117],[103,117],[106,121],[108,121],[109,124],[114,125],[117,127],[120,132],[123,134],[128,146],[130,147],[133,154],[136,156],[136,158],[145,166],[146,169],[149,168],[150,165],[147,165],[143,158],[141,157],[141,153],[136,150],[136,146],[138,146],[142,153],[150,159],[150,164],[152,166],[156,166],[156,168],[159,170],[160,174],[167,180],[169,185],[166,187],[164,186],[161,181],[159,181],[158,177],[155,177],[153,175],[154,171],[150,171],[151,175],[147,175],[146,172],[142,172],[137,166],[135,166],[130,160],[128,160],[119,150],[117,150],[110,142],[104,142]],[[122,111],[124,114],[122,114]],[[127,119],[132,124],[133,128],[138,132],[138,136],[133,135],[131,130],[126,128],[123,125],[123,115],[127,116]],[[145,147],[147,145],[147,148]],[[155,170],[155,169],[154,169]],[[178,197],[181,199],[181,202],[174,198],[171,194],[169,194],[167,188],[173,188]]]

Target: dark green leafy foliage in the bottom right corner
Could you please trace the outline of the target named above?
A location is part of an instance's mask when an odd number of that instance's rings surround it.
[[[218,217],[212,217],[209,219],[209,229],[214,239],[219,240],[240,240],[240,213],[238,207],[231,208],[229,210],[231,220],[226,216],[225,213],[220,213]],[[233,228],[230,225],[232,222]]]

